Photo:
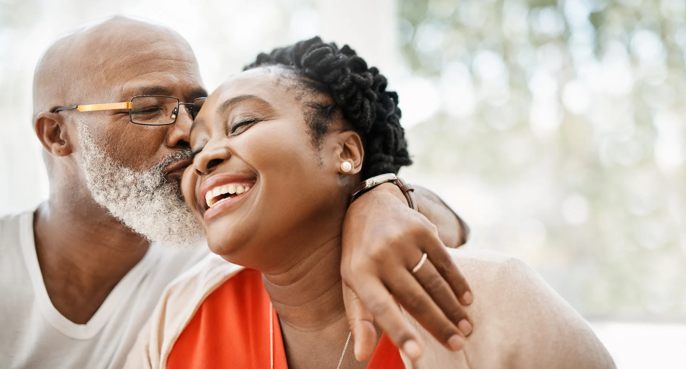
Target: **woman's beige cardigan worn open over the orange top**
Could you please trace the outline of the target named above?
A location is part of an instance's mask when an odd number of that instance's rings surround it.
[[[496,252],[450,252],[474,294],[467,307],[474,331],[464,349],[453,353],[405,313],[426,344],[414,368],[615,368],[584,319],[528,265]],[[209,255],[172,282],[143,327],[126,368],[165,369],[174,342],[204,298],[239,270]],[[412,368],[406,357],[403,360]]]

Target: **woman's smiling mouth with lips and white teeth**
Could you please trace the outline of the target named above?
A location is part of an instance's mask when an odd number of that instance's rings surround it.
[[[235,206],[255,187],[257,178],[240,174],[215,174],[208,177],[198,191],[204,221],[210,222]]]

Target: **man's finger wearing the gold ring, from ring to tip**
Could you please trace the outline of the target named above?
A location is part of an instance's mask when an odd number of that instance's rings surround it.
[[[429,296],[436,302],[438,308],[460,329],[462,334],[469,335],[472,331],[472,326],[466,311],[458,302],[450,285],[438,273],[434,264],[431,263],[431,260],[427,260],[422,265],[414,274],[414,278],[424,287]]]

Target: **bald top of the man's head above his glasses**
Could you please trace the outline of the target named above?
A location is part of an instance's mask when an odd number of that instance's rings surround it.
[[[100,100],[170,61],[198,71],[190,45],[168,27],[114,16],[77,29],[56,40],[36,66],[34,117],[57,106],[110,102]]]

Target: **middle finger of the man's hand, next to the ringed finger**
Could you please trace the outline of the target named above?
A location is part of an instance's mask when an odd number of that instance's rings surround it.
[[[426,263],[423,267],[426,267]],[[445,316],[440,307],[436,305],[436,302],[431,299],[431,296],[427,294],[424,287],[410,272],[401,268],[392,280],[384,282],[388,285],[393,296],[396,296],[398,302],[431,335],[436,337],[438,342],[441,342],[450,350],[458,351],[462,349],[464,338],[458,329],[458,324],[454,324]],[[454,302],[457,302],[457,300]],[[377,315],[375,314],[375,316]],[[458,320],[458,322],[460,321]]]

